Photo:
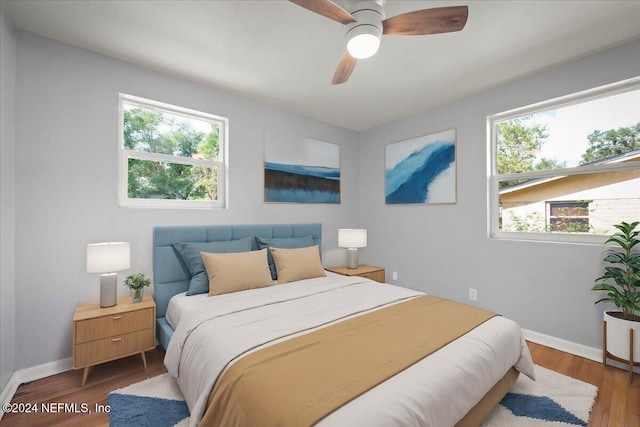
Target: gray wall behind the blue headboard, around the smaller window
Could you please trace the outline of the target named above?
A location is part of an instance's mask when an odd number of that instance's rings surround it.
[[[325,261],[345,262],[331,248],[338,227],[359,222],[356,132],[25,32],[17,75],[16,369],[71,356],[74,307],[99,300],[90,242],[131,242],[122,282],[151,274],[154,225],[321,222]],[[118,208],[119,92],[229,118],[228,209]],[[342,204],[265,204],[265,141],[306,137],[341,145]]]

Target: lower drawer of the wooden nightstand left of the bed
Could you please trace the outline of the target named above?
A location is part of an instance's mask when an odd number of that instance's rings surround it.
[[[75,346],[74,368],[104,362],[127,354],[149,350],[154,345],[153,328],[111,336]]]

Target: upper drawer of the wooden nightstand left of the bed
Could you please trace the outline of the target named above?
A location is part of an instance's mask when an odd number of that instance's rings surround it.
[[[153,308],[76,322],[76,345],[153,327]],[[153,343],[152,343],[153,345]]]

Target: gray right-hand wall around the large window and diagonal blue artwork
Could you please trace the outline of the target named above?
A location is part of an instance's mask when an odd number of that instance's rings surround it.
[[[398,281],[468,301],[523,328],[601,346],[601,312],[589,289],[601,269],[602,246],[504,241],[487,237],[488,115],[640,75],[640,42],[609,49],[442,108],[363,132],[361,226],[371,230],[366,260],[398,272]],[[471,74],[469,78],[473,78]],[[416,93],[416,96],[429,96]],[[457,203],[386,206],[384,147],[457,129]],[[364,184],[366,183],[366,185]]]

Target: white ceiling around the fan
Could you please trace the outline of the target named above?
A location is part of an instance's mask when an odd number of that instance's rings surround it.
[[[384,36],[331,86],[342,25],[285,0],[4,3],[19,29],[354,130],[640,38],[640,1],[387,0],[387,17],[467,4],[469,19],[457,33]]]

